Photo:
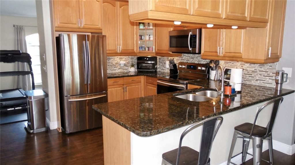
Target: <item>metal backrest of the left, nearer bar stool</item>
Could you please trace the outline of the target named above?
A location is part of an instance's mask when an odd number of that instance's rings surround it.
[[[220,119],[220,122],[217,125],[218,119]],[[200,144],[200,150],[199,150],[198,164],[199,165],[207,164],[209,156],[210,156],[210,151],[211,151],[213,140],[216,136],[216,133],[217,133],[220,125],[222,124],[222,121],[223,121],[222,116],[211,117],[209,119],[205,119],[201,122],[193,124],[190,127],[188,127],[186,130],[184,130],[180,136],[176,165],[178,165],[178,163],[179,163],[179,157],[180,157],[180,152],[181,152],[181,143],[182,143],[183,137],[187,133],[189,133],[191,130],[195,129],[196,127],[198,127],[201,124],[203,124],[203,127],[202,127],[202,134],[201,134],[201,144]],[[216,125],[217,125],[217,127],[216,127]]]

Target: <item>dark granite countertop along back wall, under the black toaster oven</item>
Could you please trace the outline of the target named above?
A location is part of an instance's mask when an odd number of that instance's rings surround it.
[[[150,77],[158,77],[158,76],[164,76],[169,75],[170,73],[166,72],[114,72],[114,73],[108,73],[108,78],[121,78],[121,77],[131,77],[131,76],[150,76]]]

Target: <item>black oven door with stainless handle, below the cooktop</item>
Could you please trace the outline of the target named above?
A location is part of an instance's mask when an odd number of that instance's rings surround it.
[[[185,90],[186,84],[173,83],[170,81],[158,80],[157,81],[157,94],[176,92],[179,90]]]

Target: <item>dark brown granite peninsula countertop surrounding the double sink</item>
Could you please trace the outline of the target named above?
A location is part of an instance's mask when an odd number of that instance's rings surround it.
[[[242,84],[242,92],[224,100],[218,97],[210,101],[194,102],[175,97],[206,90],[214,82],[217,83],[211,80],[193,81],[190,84],[204,88],[102,103],[93,105],[93,108],[134,134],[148,137],[294,92],[283,89],[278,94],[273,87]]]

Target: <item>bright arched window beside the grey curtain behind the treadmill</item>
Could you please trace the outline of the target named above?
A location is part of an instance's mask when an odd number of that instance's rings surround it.
[[[27,53],[30,54],[32,60],[32,69],[34,74],[35,85],[42,84],[41,78],[41,63],[40,63],[40,50],[39,50],[39,34],[31,34],[26,36]]]

